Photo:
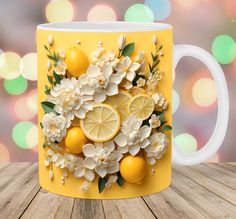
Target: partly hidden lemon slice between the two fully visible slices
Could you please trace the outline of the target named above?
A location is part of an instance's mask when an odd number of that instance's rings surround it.
[[[127,91],[121,90],[118,94],[110,96],[106,100],[106,104],[113,106],[118,113],[122,121],[129,117],[128,105],[133,96]]]

